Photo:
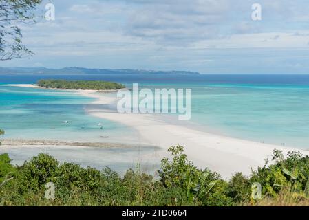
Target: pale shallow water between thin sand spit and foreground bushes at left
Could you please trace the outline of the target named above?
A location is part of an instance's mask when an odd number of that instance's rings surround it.
[[[48,153],[61,163],[72,162],[74,164],[80,164],[83,167],[90,166],[98,170],[109,167],[120,175],[124,175],[129,168],[155,175],[161,159],[158,157],[160,149],[147,146],[140,148],[27,146],[6,149],[0,148],[1,153],[8,153],[12,159],[11,163],[19,166],[26,160],[39,155],[39,153]]]

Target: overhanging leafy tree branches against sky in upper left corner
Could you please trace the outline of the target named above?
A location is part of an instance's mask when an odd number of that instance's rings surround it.
[[[33,10],[41,0],[0,0],[0,61],[33,53],[22,45],[21,23],[34,23]]]

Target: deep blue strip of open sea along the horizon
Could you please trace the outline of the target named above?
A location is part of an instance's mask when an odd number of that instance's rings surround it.
[[[219,85],[295,85],[309,86],[309,75],[40,75],[40,74],[8,74],[0,75],[0,83],[36,83],[40,79],[71,79],[71,80],[110,80],[119,83],[151,83],[151,84],[219,84]]]

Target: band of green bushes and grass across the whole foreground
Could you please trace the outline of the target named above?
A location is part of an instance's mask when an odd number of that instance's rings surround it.
[[[229,181],[209,169],[198,169],[172,146],[173,159],[162,159],[158,177],[128,170],[124,177],[60,164],[47,154],[23,166],[0,155],[0,203],[3,206],[297,206],[309,205],[309,157],[275,151],[273,162],[253,170],[250,177],[236,173]],[[45,198],[45,184],[55,186],[55,199]],[[262,186],[254,199],[252,186]]]

